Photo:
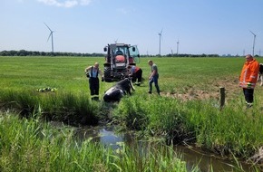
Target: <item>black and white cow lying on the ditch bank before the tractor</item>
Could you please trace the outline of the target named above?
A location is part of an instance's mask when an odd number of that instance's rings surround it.
[[[125,78],[124,80],[117,82],[114,86],[105,91],[103,100],[106,102],[120,101],[124,95],[131,95],[131,90],[135,91],[132,85],[132,79]]]

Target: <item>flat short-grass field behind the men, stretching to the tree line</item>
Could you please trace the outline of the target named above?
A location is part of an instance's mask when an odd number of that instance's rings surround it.
[[[150,67],[149,58],[141,58],[142,77],[146,79],[138,92],[147,92]],[[214,97],[219,86],[224,86],[233,98],[239,97],[239,72],[242,58],[153,58],[159,66],[162,95],[178,93],[181,96]],[[260,59],[259,59],[260,60]],[[84,57],[1,57],[1,90],[34,91],[52,87],[61,92],[89,92],[84,68],[94,62],[102,64],[104,58]],[[101,82],[101,93],[112,83]],[[259,87],[258,87],[259,88]],[[259,89],[256,89],[259,91]],[[256,93],[259,95],[259,92]],[[259,96],[258,96],[259,99]]]

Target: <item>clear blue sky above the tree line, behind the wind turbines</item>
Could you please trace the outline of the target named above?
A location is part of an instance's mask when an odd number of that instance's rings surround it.
[[[103,53],[107,43],[141,54],[263,55],[263,0],[1,0],[0,51]]]

